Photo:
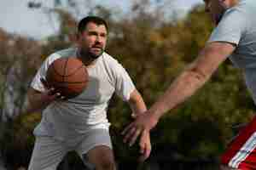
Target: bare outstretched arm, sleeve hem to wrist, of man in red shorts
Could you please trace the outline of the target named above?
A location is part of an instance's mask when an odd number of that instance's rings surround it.
[[[201,51],[199,57],[177,77],[166,93],[149,109],[156,118],[183,103],[212,76],[235,47],[230,43],[212,42]]]

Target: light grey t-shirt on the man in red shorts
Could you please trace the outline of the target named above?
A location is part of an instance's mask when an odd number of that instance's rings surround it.
[[[230,60],[244,72],[256,103],[256,1],[240,0],[224,13],[208,42],[230,42],[236,50]]]

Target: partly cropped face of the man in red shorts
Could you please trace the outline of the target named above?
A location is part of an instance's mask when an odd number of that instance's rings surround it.
[[[226,8],[224,8],[224,1],[226,0],[204,0],[206,4],[206,11],[210,14],[215,25],[221,20]]]

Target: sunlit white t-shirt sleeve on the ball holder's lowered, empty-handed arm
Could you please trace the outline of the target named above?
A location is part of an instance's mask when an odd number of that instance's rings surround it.
[[[114,79],[115,93],[123,100],[129,100],[130,94],[135,90],[135,85],[125,68],[117,61],[114,66]]]

